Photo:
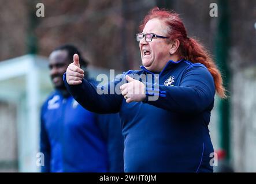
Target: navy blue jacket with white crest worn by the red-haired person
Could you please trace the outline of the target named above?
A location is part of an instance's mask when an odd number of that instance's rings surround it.
[[[154,75],[143,66],[141,69],[125,74]],[[215,87],[203,64],[170,60],[159,73],[157,86],[145,82],[146,99],[130,104],[121,94],[99,95],[97,88],[86,80],[71,86],[64,74],[64,81],[84,108],[97,113],[120,112],[125,172],[213,171],[208,124]],[[107,85],[117,86],[119,81],[115,79]],[[150,101],[151,95],[158,95],[158,99]]]

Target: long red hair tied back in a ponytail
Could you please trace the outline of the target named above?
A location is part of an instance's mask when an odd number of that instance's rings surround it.
[[[170,41],[180,41],[180,46],[177,52],[181,57],[184,57],[184,59],[189,60],[192,63],[202,63],[208,68],[210,74],[213,76],[217,94],[221,98],[227,98],[227,95],[225,94],[226,90],[222,84],[220,71],[203,45],[197,40],[187,36],[187,30],[185,29],[179,14],[174,11],[154,7],[149,11],[149,14],[147,14],[142,24],[139,26],[140,32],[142,32],[146,23],[153,18],[158,18],[159,20],[164,21],[167,25],[167,37],[169,37]]]

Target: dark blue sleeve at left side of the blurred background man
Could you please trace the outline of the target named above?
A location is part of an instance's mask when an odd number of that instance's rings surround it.
[[[50,172],[50,141],[46,132],[45,122],[43,120],[43,109],[41,110],[40,116],[40,152],[44,155],[44,166],[41,166],[42,173]]]

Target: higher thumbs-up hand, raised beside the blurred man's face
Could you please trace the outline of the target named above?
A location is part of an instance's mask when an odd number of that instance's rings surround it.
[[[77,54],[73,57],[73,63],[66,68],[66,82],[69,85],[79,85],[84,78],[84,71],[80,68],[79,56]]]

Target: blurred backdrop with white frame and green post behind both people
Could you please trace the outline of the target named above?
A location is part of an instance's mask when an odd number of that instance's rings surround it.
[[[36,16],[38,3],[44,17]],[[209,14],[211,3],[217,17]],[[135,34],[154,6],[179,13],[189,36],[209,49],[222,72],[229,98],[216,96],[209,127],[215,171],[256,172],[255,0],[0,0],[1,172],[39,171],[40,106],[53,90],[50,52],[76,45],[90,61],[91,76],[137,70]]]

